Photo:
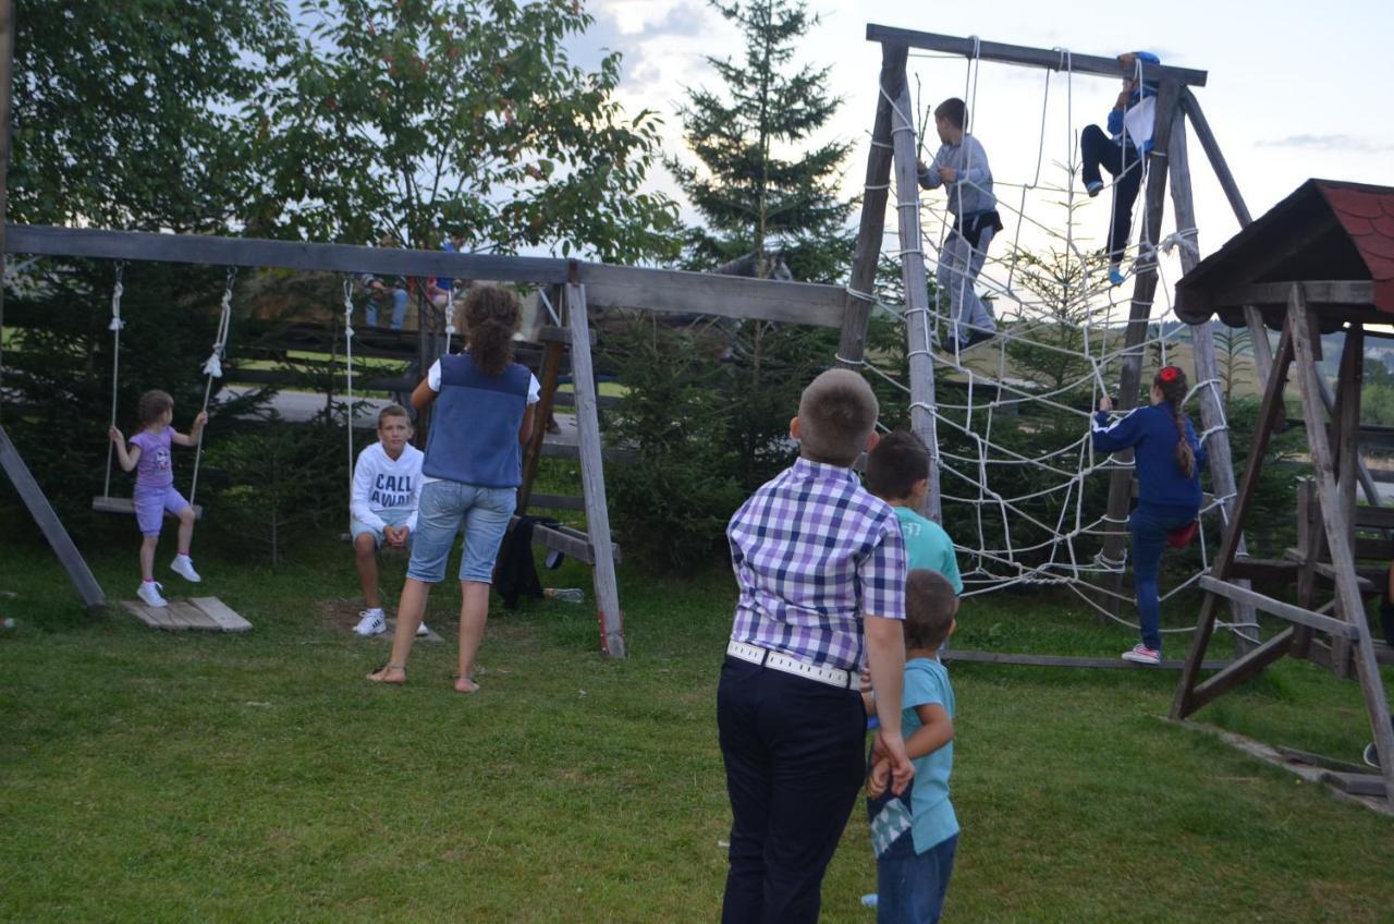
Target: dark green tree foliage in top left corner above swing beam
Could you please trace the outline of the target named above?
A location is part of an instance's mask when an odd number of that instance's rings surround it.
[[[255,187],[247,105],[280,0],[15,4],[10,219],[220,232]]]

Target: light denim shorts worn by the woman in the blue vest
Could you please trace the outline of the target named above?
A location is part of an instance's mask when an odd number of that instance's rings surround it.
[[[460,482],[427,482],[417,507],[417,535],[407,576],[425,583],[445,581],[454,535],[464,528],[460,581],[493,582],[493,562],[517,505],[516,487],[481,487]]]

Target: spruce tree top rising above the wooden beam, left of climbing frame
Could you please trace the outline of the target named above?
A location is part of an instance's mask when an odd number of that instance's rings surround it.
[[[689,230],[686,262],[710,269],[753,253],[754,275],[767,278],[782,254],[796,279],[836,282],[852,253],[855,202],[836,190],[850,145],[804,144],[842,100],[827,89],[829,68],[793,70],[817,17],[803,0],[710,1],[744,33],[746,52],[708,57],[723,89],[690,89],[679,110],[701,166],[668,167],[705,222]]]

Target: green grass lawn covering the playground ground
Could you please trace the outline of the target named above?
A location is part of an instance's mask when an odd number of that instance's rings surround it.
[[[7,511],[7,518],[10,512]],[[206,537],[213,593],[247,635],[84,616],[42,546],[0,546],[0,918],[712,921],[729,815],[715,684],[725,572],[622,569],[631,657],[597,655],[592,607],[495,613],[484,691],[450,690],[454,607],[428,616],[406,688],[362,674],[346,547],[273,571]],[[195,537],[199,542],[198,537]],[[86,542],[113,596],[130,523]],[[163,565],[166,551],[162,550]],[[403,564],[389,564],[386,585]],[[585,586],[567,564],[546,578]],[[167,590],[185,586],[170,576]],[[963,648],[1117,653],[1131,639],[1065,597],[974,600]],[[1179,642],[1172,642],[1181,649]],[[1394,821],[1161,722],[1174,674],[952,667],[952,921],[1380,921]],[[1351,758],[1354,684],[1282,664],[1202,713]],[[860,811],[824,884],[825,921],[870,923]]]

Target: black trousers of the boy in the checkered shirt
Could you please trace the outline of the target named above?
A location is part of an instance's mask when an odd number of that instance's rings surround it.
[[[730,796],[723,924],[813,924],[866,779],[861,696],[726,657],[717,727]]]

